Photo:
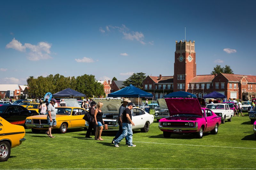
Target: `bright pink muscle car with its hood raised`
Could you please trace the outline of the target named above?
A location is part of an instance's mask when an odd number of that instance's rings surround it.
[[[194,133],[197,138],[202,138],[204,132],[218,133],[221,117],[201,107],[197,99],[169,98],[165,101],[170,117],[160,119],[158,124],[164,137]]]

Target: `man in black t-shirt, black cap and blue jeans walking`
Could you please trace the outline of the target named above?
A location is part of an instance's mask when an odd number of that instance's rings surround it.
[[[113,144],[115,144],[116,147],[118,146],[118,143],[121,142],[124,137],[128,137],[128,147],[135,147],[135,144],[132,144],[132,126],[134,126],[134,123],[132,122],[132,108],[135,107],[132,102],[128,103],[128,107],[124,109],[123,116],[122,116],[122,128],[123,133],[114,141],[112,141]]]

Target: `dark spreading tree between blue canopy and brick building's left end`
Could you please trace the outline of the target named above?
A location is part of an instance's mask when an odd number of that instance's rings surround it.
[[[126,79],[123,83],[124,86],[129,86],[130,84],[134,85],[135,87],[142,89],[143,85],[142,82],[146,78],[145,73],[133,73],[128,79]],[[124,88],[124,87],[122,87]]]

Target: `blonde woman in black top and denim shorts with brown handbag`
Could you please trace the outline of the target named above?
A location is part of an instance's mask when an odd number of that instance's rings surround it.
[[[95,120],[95,124],[96,124],[96,132],[95,132],[95,137],[94,137],[95,140],[103,140],[101,138],[101,133],[102,133],[103,124],[104,124],[104,121],[102,119],[103,113],[101,111],[102,106],[103,106],[103,103],[98,102],[96,105],[96,109],[94,111],[94,120]],[[99,137],[98,137],[98,134],[99,134]]]

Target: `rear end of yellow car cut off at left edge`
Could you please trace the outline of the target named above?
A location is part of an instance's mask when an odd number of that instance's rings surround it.
[[[19,146],[26,139],[23,126],[14,125],[0,117],[0,162],[7,161],[11,148]]]

